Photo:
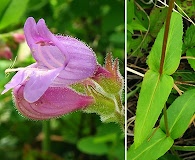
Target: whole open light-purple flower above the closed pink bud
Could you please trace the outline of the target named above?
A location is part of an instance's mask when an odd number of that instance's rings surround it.
[[[18,69],[2,94],[28,78],[24,98],[32,103],[48,87],[67,86],[94,74],[97,62],[92,49],[75,38],[52,34],[43,19],[36,24],[29,17],[24,25],[24,34],[36,63]]]

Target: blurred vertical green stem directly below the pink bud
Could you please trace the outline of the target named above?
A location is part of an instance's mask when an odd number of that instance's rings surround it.
[[[50,120],[42,122],[42,131],[43,131],[43,141],[42,149],[43,151],[50,151]]]

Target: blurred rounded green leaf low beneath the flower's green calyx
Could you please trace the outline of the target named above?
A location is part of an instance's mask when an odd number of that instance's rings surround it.
[[[84,153],[103,155],[108,152],[106,143],[99,143],[95,137],[85,137],[79,140],[77,147]]]

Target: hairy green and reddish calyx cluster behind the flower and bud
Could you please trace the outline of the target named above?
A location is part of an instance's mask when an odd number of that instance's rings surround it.
[[[84,109],[87,113],[100,115],[103,122],[117,122],[124,126],[124,107],[122,104],[123,77],[119,72],[118,59],[113,60],[108,54],[104,67],[98,65],[91,78],[94,85],[88,85],[88,95],[95,102]]]

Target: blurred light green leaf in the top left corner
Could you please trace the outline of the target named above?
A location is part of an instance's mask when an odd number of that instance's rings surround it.
[[[12,0],[0,20],[0,30],[19,22],[29,0]]]

